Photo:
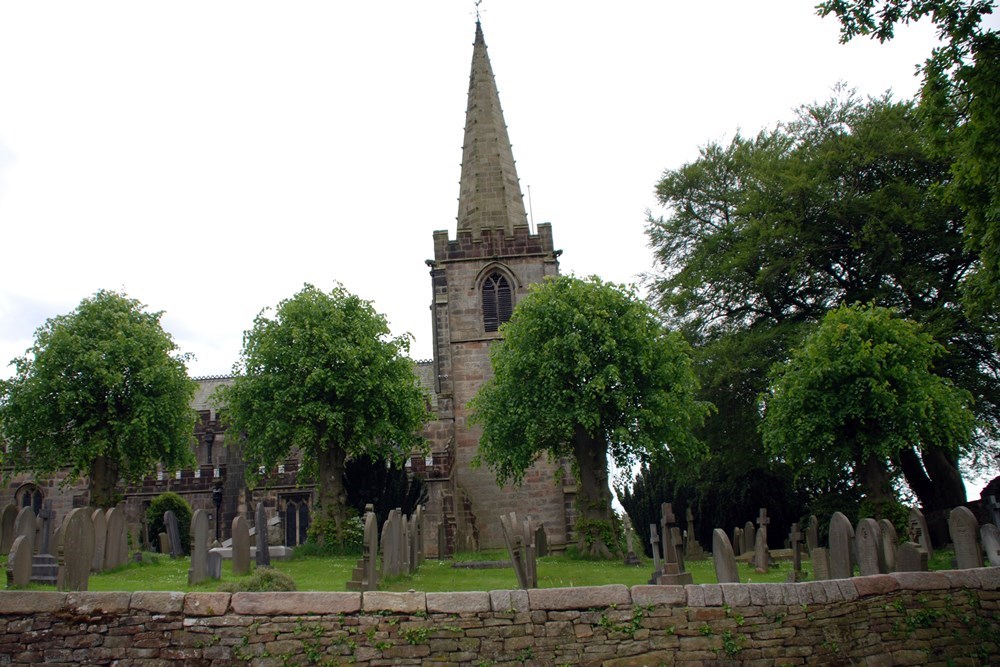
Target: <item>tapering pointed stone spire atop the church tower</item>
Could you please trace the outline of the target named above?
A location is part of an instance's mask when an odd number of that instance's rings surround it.
[[[499,228],[512,235],[515,226],[527,224],[514,153],[500,109],[483,28],[477,20],[469,106],[465,112],[458,229],[471,231],[478,238],[484,229]]]

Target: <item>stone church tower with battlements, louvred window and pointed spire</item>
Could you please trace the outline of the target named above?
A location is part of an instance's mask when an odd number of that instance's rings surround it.
[[[428,526],[447,526],[449,550],[502,546],[499,516],[516,511],[542,522],[558,548],[572,530],[571,477],[566,488],[544,458],[519,488],[499,487],[491,471],[472,467],[480,429],[469,424],[468,402],[491,375],[490,344],[528,286],[555,276],[560,251],[552,227],[532,234],[514,167],[507,127],[482,26],[476,39],[462,147],[456,238],[434,232],[431,312],[434,360],[423,371],[437,420],[425,432],[432,453],[414,460],[429,487]],[[568,473],[568,470],[567,470]],[[432,538],[433,539],[433,538]],[[434,549],[434,547],[429,547]]]

